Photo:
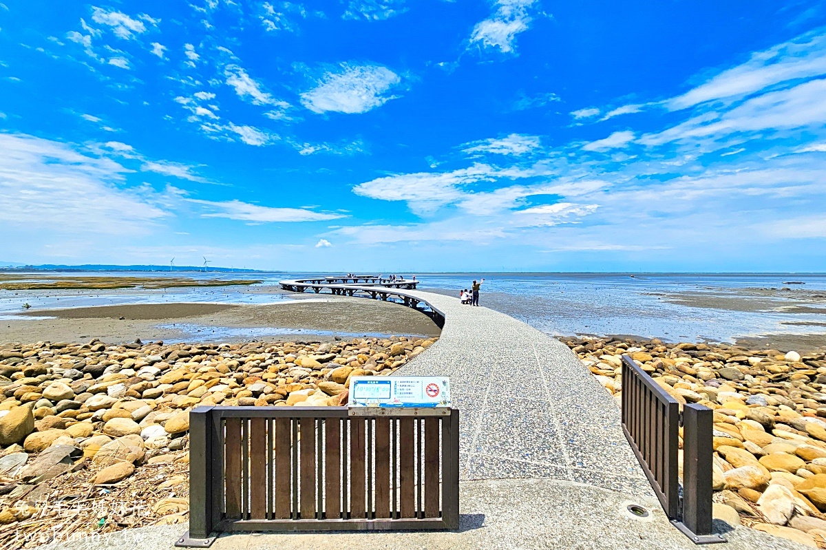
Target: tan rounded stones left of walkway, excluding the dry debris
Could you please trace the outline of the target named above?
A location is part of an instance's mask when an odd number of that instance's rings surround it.
[[[0,344],[0,475],[21,484],[25,471],[26,481],[44,483],[88,468],[94,484],[128,487],[142,468],[188,463],[180,451],[188,448],[194,406],[338,405],[350,376],[391,374],[434,341]],[[87,491],[57,486],[48,491],[50,505]],[[174,491],[185,494],[186,487]],[[31,517],[31,510],[0,510],[0,524]],[[177,524],[187,519],[188,500],[170,497],[154,510],[166,514],[159,521]]]

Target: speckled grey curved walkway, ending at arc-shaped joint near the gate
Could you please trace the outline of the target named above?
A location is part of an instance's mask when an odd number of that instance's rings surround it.
[[[552,477],[653,495],[615,401],[567,345],[487,307],[406,293],[445,321],[439,341],[397,374],[450,377],[463,479]]]

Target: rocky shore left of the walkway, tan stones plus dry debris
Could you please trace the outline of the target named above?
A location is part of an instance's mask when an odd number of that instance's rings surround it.
[[[192,407],[338,405],[434,341],[2,344],[0,549],[180,523]]]

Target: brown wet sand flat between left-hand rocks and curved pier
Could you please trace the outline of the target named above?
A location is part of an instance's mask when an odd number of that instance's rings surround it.
[[[51,316],[55,319],[32,319]],[[121,317],[123,319],[121,319]],[[159,325],[164,325],[160,327]],[[177,328],[174,325],[184,325]],[[130,304],[124,306],[83,307],[40,310],[19,315],[19,319],[0,321],[0,343],[37,341],[81,341],[99,338],[107,343],[165,339],[196,339],[188,330],[202,326],[242,329],[231,338],[215,341],[244,341],[266,338],[271,341],[333,339],[332,335],[307,333],[247,336],[243,329],[286,328],[330,331],[349,334],[399,334],[437,336],[439,327],[430,317],[399,304],[326,296],[324,301],[302,300],[265,306],[228,304]],[[205,340],[198,336],[198,340]],[[208,340],[207,341],[212,341]]]

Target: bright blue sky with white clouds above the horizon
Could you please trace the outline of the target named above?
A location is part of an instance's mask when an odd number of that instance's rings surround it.
[[[0,261],[824,271],[824,2],[0,3]]]

